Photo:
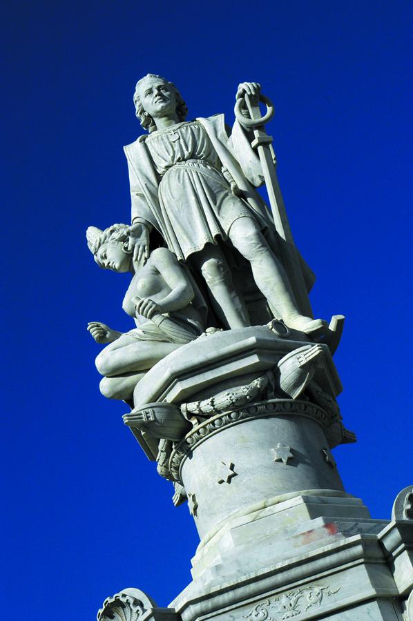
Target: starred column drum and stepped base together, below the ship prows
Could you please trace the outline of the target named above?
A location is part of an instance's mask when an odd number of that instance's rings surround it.
[[[327,425],[314,404],[267,400],[176,447],[171,469],[202,538],[171,604],[182,620],[402,619],[413,522],[374,520],[345,493]]]

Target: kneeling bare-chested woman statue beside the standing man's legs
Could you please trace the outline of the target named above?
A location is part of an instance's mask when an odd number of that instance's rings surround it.
[[[130,402],[149,368],[202,333],[205,307],[186,269],[167,248],[134,261],[128,230],[126,224],[103,231],[90,226],[86,237],[100,267],[133,274],[122,306],[138,327],[122,334],[100,322],[88,324],[96,342],[108,343],[96,358],[97,370],[105,376],[101,393]],[[139,322],[137,315],[146,321]]]

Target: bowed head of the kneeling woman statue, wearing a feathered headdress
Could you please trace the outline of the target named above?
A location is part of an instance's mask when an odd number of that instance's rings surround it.
[[[128,272],[131,270],[132,255],[128,252],[128,225],[112,224],[105,230],[89,226],[86,230],[88,248],[95,262],[106,270]]]

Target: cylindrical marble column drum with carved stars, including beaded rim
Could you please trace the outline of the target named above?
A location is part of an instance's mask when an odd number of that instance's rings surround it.
[[[316,404],[266,400],[196,426],[171,455],[200,534],[259,502],[312,490],[345,497]]]

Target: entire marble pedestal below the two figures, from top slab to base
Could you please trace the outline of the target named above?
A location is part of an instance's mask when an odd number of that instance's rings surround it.
[[[201,540],[192,582],[169,607],[140,606],[127,590],[106,600],[99,621],[117,619],[116,606],[128,621],[413,621],[413,488],[398,495],[392,520],[372,519],[345,492],[331,449],[349,436],[334,409],[339,382],[328,352],[316,371],[325,406],[311,391],[293,399],[268,390],[237,407],[215,404],[219,390],[229,391],[227,403],[303,346],[265,326],[228,331],[180,348],[142,380],[127,421],[138,420],[146,454],[186,493]],[[189,429],[158,455],[157,404],[163,416],[186,413]]]

